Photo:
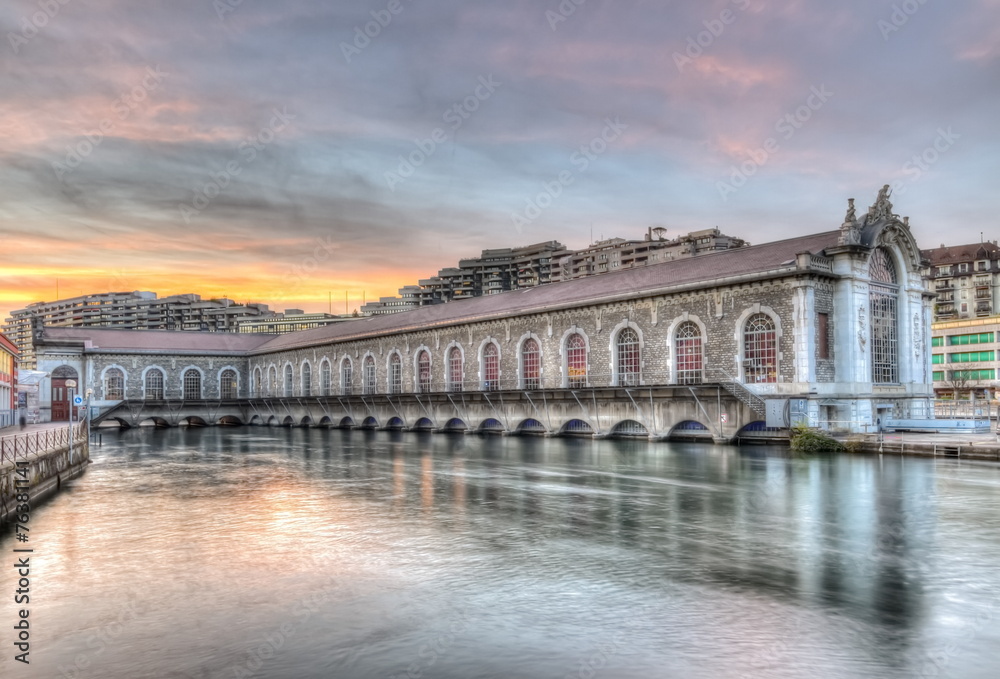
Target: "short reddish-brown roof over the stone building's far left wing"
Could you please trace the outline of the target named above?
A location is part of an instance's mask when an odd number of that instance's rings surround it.
[[[273,338],[274,335],[232,332],[46,327],[42,343],[86,342],[90,349],[105,351],[242,354]]]

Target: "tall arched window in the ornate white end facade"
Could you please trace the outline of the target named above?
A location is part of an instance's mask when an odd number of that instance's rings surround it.
[[[897,307],[899,284],[892,258],[882,248],[872,252],[868,264],[871,278],[868,293],[871,308],[872,382],[899,382],[899,351],[897,346]]]

